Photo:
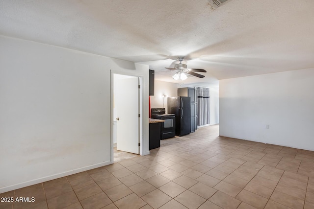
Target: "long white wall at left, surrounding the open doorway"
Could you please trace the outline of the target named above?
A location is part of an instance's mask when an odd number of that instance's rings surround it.
[[[0,36],[0,193],[110,163],[110,69],[143,77],[147,110],[148,66]]]

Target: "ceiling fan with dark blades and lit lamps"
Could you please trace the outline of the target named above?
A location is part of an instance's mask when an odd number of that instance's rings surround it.
[[[174,68],[165,68],[168,70],[177,70],[177,72],[172,76],[175,80],[185,80],[187,78],[186,74],[193,75],[199,78],[204,78],[204,75],[198,74],[196,72],[206,72],[204,69],[194,69],[187,68],[187,65],[183,64],[182,61],[184,57],[177,58],[180,63],[175,64]]]

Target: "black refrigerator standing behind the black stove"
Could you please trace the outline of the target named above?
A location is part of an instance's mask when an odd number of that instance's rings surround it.
[[[168,114],[176,116],[176,135],[191,133],[191,97],[168,97]]]

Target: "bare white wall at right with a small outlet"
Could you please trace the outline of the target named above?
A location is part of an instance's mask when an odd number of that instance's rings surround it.
[[[314,69],[219,84],[220,136],[314,150]]]

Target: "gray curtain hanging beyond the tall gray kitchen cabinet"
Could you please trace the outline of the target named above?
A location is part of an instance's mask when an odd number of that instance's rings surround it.
[[[209,124],[209,88],[195,87],[197,91],[197,125]]]

